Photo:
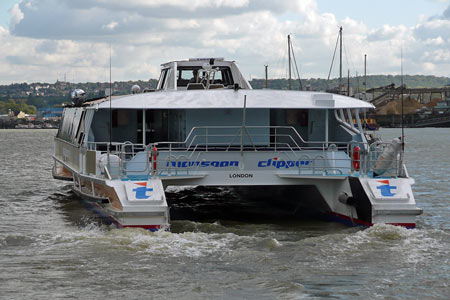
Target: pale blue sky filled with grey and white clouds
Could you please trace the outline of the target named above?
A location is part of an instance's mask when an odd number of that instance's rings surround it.
[[[1,0],[0,84],[158,78],[162,63],[234,60],[247,79],[327,78],[339,27],[343,68],[450,76],[450,0]],[[403,55],[401,54],[403,53]],[[334,65],[331,77],[337,77]]]

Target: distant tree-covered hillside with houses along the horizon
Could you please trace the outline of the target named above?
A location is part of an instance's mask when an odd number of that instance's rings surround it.
[[[303,79],[303,89],[308,88],[315,91],[325,91],[338,86],[339,80],[334,78],[327,82],[326,79],[310,78]],[[347,84],[347,78],[343,79],[343,83]],[[364,78],[352,77],[350,78],[350,85],[353,89],[364,90]],[[400,76],[393,75],[371,75],[367,76],[367,88],[386,86],[394,83],[399,86],[401,82]],[[405,75],[404,83],[409,88],[431,88],[443,87],[450,85],[450,78],[424,76],[424,75]],[[120,81],[113,83],[113,90],[116,95],[128,94],[131,87],[138,84],[141,89],[155,88],[157,80],[150,79],[147,81]],[[250,84],[254,89],[262,89],[265,87],[264,79],[253,79]],[[287,90],[289,86],[287,79],[271,79],[269,80],[269,88]],[[292,89],[298,90],[300,83],[298,80],[292,80]],[[109,87],[107,82],[87,82],[87,83],[70,83],[70,82],[56,82],[56,83],[20,83],[11,85],[0,85],[0,114],[8,112],[8,109],[13,111],[25,110],[27,112],[35,112],[39,108],[48,108],[61,105],[66,102],[69,103],[70,94],[76,88],[81,88],[86,91],[88,98],[102,97],[104,91]]]

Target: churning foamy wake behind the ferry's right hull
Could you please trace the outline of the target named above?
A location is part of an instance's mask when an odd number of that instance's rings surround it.
[[[355,262],[377,259],[380,265],[407,268],[426,264],[436,259],[436,256],[448,261],[446,255],[449,251],[445,246],[448,238],[449,234],[440,230],[376,224],[364,230],[350,228],[339,233],[306,238],[296,242],[295,247],[315,249],[315,261],[321,268],[342,270]]]

